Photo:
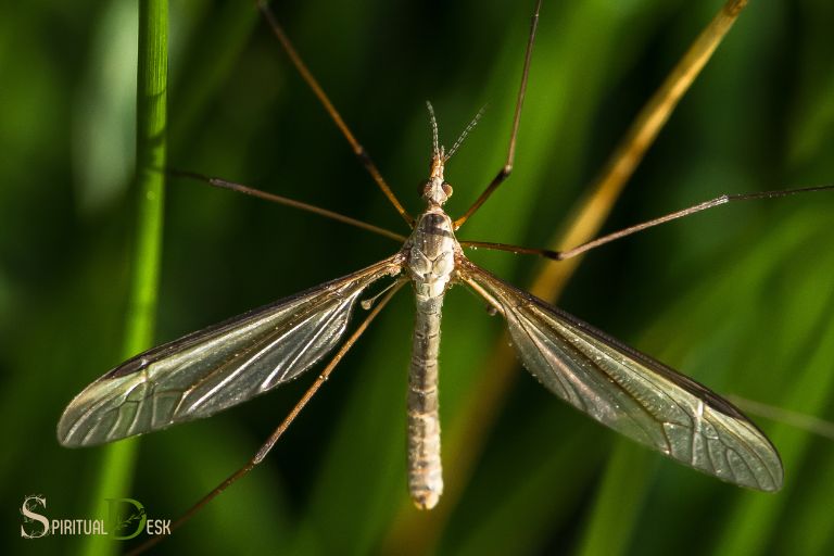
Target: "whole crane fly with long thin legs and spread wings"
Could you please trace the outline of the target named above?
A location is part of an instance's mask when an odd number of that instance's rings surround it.
[[[432,154],[429,177],[421,190],[426,208],[413,218],[353,139],[271,12],[260,3],[292,62],[409,224],[410,235],[404,238],[399,251],[379,263],[146,351],[115,367],[70,403],[58,425],[61,444],[73,447],[102,444],[208,417],[300,377],[341,345],[288,420],[264,444],[252,464],[241,469],[245,472],[263,459],[391,296],[410,282],[416,317],[407,392],[408,489],[418,507],[432,508],[443,492],[438,397],[441,313],[446,291],[462,285],[482,296],[491,312],[504,319],[522,365],[556,396],[617,432],[694,469],[741,486],[778,491],[782,486],[783,469],[775,447],[733,404],[650,356],[497,278],[467,258],[464,248],[493,247],[567,258],[648,226],[729,201],[781,197],[831,186],[724,195],[561,253],[458,241],[456,231],[511,170],[540,5],[541,1],[532,18],[507,162],[470,208],[453,219],[443,208],[453,192],[444,178],[444,169],[478,116],[446,152],[440,144],[437,121],[429,105]],[[252,192],[216,178],[210,181]],[[383,286],[381,293],[366,298],[369,289],[380,285]],[[365,309],[374,306],[358,329],[349,336],[349,320],[358,311],[357,304]]]

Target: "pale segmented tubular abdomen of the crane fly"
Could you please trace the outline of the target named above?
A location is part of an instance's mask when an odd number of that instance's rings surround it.
[[[442,304],[442,296],[417,300],[408,372],[408,491],[420,509],[433,508],[443,493],[438,410]]]

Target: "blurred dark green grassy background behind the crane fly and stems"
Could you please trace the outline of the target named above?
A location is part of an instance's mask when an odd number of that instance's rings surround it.
[[[430,152],[425,100],[446,144],[486,104],[447,167],[455,215],[503,163],[532,3],[309,0],[275,10],[413,212]],[[691,4],[545,1],[516,173],[462,239],[549,241],[720,2]],[[170,12],[173,166],[406,231],[250,2],[174,2]],[[724,192],[834,181],[832,28],[827,0],[754,0],[606,229]],[[121,361],[135,227],[135,56],[134,2],[0,5],[4,553],[79,545],[21,540],[27,494],[45,494],[50,517],[92,517],[102,450],[61,448],[54,427],[72,396]],[[167,191],[160,342],[399,248],[195,182],[173,180]],[[817,193],[656,228],[590,254],[559,304],[719,393],[831,419],[832,211],[834,193]],[[472,258],[519,286],[541,264],[483,251]],[[472,476],[458,485],[460,500],[445,508],[437,536],[422,534],[429,517],[408,509],[405,488],[412,303],[401,293],[265,464],[159,552],[834,552],[831,440],[755,417],[782,452],[786,482],[774,495],[746,492],[620,440],[520,368]],[[450,293],[444,426],[490,371],[501,331],[482,302],[460,288]],[[254,453],[312,378],[144,438],[132,486],[112,495],[176,518]],[[444,444],[448,457],[467,447]],[[397,516],[405,533],[392,536]],[[408,535],[424,544],[402,541]]]

